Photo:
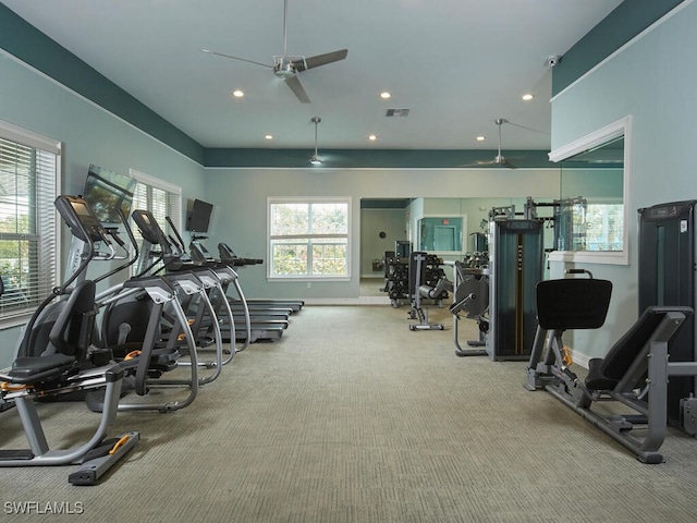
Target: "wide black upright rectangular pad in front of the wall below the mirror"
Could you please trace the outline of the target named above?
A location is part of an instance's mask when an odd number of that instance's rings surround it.
[[[543,280],[537,284],[537,321],[547,330],[597,329],[610,306],[612,282],[592,278]]]

